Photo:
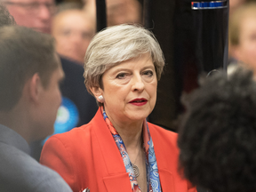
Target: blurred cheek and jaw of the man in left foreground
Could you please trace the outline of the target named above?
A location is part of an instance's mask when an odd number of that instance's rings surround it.
[[[36,135],[41,139],[52,134],[53,125],[56,120],[58,108],[61,103],[60,82],[63,80],[64,72],[62,68],[57,68],[52,72],[50,82],[46,88],[42,87],[40,92],[40,103],[37,112],[38,129]]]

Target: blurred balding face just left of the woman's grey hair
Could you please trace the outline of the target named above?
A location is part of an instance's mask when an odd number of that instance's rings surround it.
[[[93,22],[81,11],[60,12],[52,23],[57,52],[80,63],[84,63],[93,34]]]

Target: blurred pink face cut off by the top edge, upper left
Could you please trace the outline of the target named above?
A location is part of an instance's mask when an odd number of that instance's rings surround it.
[[[6,0],[5,3],[18,25],[51,33],[53,0]]]

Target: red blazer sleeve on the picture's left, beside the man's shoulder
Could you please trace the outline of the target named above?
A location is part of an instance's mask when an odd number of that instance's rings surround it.
[[[44,144],[40,163],[58,172],[73,191],[79,191],[76,180],[76,166],[74,156],[68,151],[67,142],[52,136]]]

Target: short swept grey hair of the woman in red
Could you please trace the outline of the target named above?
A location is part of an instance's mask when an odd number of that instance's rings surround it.
[[[149,53],[160,80],[164,68],[164,54],[156,37],[138,25],[119,25],[106,28],[92,38],[84,57],[84,84],[87,91],[102,87],[101,76],[106,70],[125,60]],[[93,94],[92,94],[93,95]]]

